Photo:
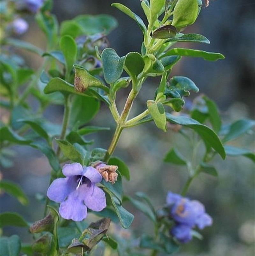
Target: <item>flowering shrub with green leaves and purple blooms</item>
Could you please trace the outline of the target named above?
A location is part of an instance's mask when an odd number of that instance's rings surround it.
[[[209,1],[142,0],[147,20],[127,6],[113,3],[143,35],[141,52],[124,56],[109,47],[107,35],[117,26],[117,20],[110,15],[80,15],[59,24],[51,13],[51,0],[4,0],[0,5],[1,107],[10,113],[1,120],[0,163],[4,168],[10,165],[9,147],[18,144],[39,150],[52,169],[50,185],[41,198],[45,212],[38,217],[40,220],[31,225],[18,213],[0,215],[1,228],[29,227],[33,244],[23,244],[18,235],[1,236],[0,255],[99,255],[98,247],[100,255],[169,255],[193,237],[202,238],[195,229],[202,233],[213,221],[202,203],[186,198],[190,184],[200,173],[217,175],[210,164],[215,156],[225,159],[242,155],[255,160],[253,152],[228,144],[250,131],[255,122],[242,119],[223,126],[215,103],[203,95],[187,107],[190,92],[198,93],[199,88],[191,79],[171,74],[185,56],[208,61],[224,59],[221,53],[175,47],[183,42],[210,43],[203,35],[185,33]],[[46,50],[12,38],[29,29],[25,21],[28,13],[35,15],[45,35]],[[43,58],[41,67],[29,68],[13,48],[38,54]],[[149,77],[158,78],[157,89],[152,95],[148,90],[144,109],[133,114],[133,103],[141,88],[148,86]],[[124,90],[129,94],[121,109],[116,99]],[[38,109],[32,107],[30,96],[36,99]],[[62,125],[45,118],[46,108],[55,104],[64,108]],[[107,149],[93,147],[93,141],[87,138],[88,134],[109,130],[88,125],[101,104],[109,108],[116,125]],[[137,192],[136,198],[124,193],[122,180],[130,181],[132,174],[117,157],[122,131],[149,122],[161,131],[179,132],[194,147],[191,160],[176,147],[166,153],[164,161],[186,166],[188,178],[179,194],[168,192],[166,205],[158,209],[143,192]],[[202,153],[196,154],[200,142],[204,147]],[[145,176],[146,170],[139,171]],[[4,177],[0,185],[1,191],[27,203],[17,184]],[[142,234],[131,242],[121,240],[118,229],[128,229],[135,218],[126,209],[126,202],[148,217],[154,233]],[[95,222],[89,223],[88,213]]]

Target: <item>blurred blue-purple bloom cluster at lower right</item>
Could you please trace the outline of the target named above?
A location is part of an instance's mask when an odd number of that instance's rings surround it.
[[[175,221],[171,234],[179,242],[189,242],[192,239],[191,230],[195,226],[203,229],[212,225],[212,218],[205,212],[205,207],[199,201],[190,200],[169,191],[166,202],[171,207],[170,216]]]

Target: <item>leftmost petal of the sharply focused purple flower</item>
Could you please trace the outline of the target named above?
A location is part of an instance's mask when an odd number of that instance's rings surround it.
[[[58,178],[51,183],[47,190],[47,197],[57,203],[65,200],[68,194],[75,189],[76,182],[72,178]]]

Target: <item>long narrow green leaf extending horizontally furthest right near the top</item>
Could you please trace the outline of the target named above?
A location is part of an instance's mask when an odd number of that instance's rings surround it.
[[[207,52],[202,50],[186,49],[186,48],[173,48],[165,52],[160,58],[164,58],[166,56],[172,56],[172,55],[204,58],[205,60],[209,60],[209,61],[216,61],[218,59],[225,58],[221,53],[218,53],[218,52]]]

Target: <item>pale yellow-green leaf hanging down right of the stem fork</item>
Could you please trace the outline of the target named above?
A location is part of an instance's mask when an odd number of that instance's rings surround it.
[[[148,100],[147,107],[156,126],[166,132],[166,116],[163,104],[160,102],[156,103],[153,100]]]

